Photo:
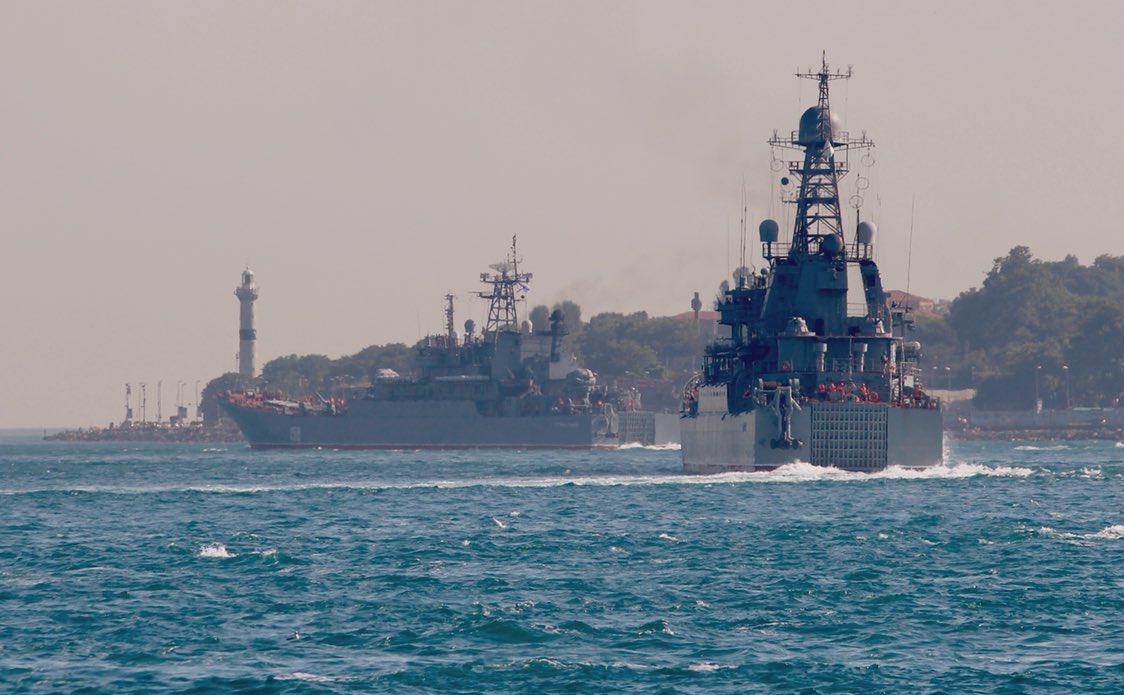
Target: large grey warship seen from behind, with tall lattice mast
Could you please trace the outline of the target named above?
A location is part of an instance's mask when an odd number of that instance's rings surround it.
[[[781,179],[785,201],[796,207],[791,241],[778,241],[778,224],[762,222],[768,267],[740,273],[717,303],[729,336],[707,346],[701,373],[687,385],[683,466],[696,473],[796,461],[850,471],[936,466],[941,404],[922,383],[921,345],[906,340],[907,307],[887,305],[874,226],[859,220],[860,184],[850,242],[844,234],[839,181],[850,153],[873,146],[865,134],[844,133],[831,112],[828,84],[851,71],[833,72],[825,58],[818,72],[798,76],[818,83],[818,103],[798,130],[770,139],[774,171],[786,165],[778,150],[803,153],[787,161],[796,181]]]

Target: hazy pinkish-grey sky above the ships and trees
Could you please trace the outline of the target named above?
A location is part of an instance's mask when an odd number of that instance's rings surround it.
[[[535,304],[687,310],[736,261],[743,178],[751,233],[783,220],[765,141],[822,49],[878,144],[888,287],[914,200],[923,296],[1016,244],[1124,254],[1122,7],[9,0],[0,426],[119,421],[127,381],[149,416],[157,379],[165,416],[193,400],[235,367],[246,263],[259,367],[413,342],[447,291],[479,322],[513,234]]]

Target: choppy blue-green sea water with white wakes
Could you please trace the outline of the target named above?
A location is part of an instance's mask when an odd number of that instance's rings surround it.
[[[1124,691],[1124,445],[948,449],[687,477],[8,435],[0,691]]]

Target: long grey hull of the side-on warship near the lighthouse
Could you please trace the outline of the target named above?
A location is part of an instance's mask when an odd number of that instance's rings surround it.
[[[640,413],[542,416],[481,415],[465,401],[356,401],[338,415],[287,414],[224,404],[254,449],[613,449]],[[620,427],[620,421],[631,427]],[[606,432],[606,430],[610,432]],[[653,433],[659,428],[640,427]],[[653,434],[654,436],[654,434]]]

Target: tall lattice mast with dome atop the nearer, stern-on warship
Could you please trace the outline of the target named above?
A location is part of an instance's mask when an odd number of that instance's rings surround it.
[[[873,146],[873,142],[863,133],[852,139],[850,134],[839,127],[833,118],[828,99],[828,83],[834,80],[851,78],[851,69],[846,72],[833,72],[827,66],[824,54],[818,72],[798,72],[796,76],[815,80],[819,87],[819,99],[816,106],[809,108],[800,117],[799,130],[782,138],[776,132],[769,139],[774,147],[804,151],[803,161],[789,161],[788,171],[800,180],[800,189],[795,200],[796,223],[792,228],[792,244],[789,256],[804,256],[816,249],[809,249],[810,242],[821,243],[832,236],[837,236],[840,251],[845,246],[843,236],[843,218],[840,211],[839,181],[847,173],[846,153],[853,148]],[[836,154],[843,155],[836,161]],[[828,241],[835,244],[834,241]],[[771,256],[771,249],[769,251]]]

